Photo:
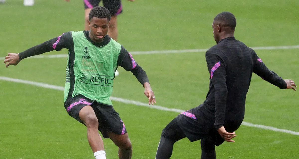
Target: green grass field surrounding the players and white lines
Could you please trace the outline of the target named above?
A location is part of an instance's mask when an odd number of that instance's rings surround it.
[[[210,48],[215,45],[211,23],[222,11],[234,13],[235,36],[248,46],[299,45],[298,0],[123,0],[118,42],[131,52]],[[84,28],[80,0],[36,0],[33,7],[7,0],[0,5],[0,15],[0,58]],[[299,83],[298,49],[256,52],[271,70]],[[66,53],[63,49],[45,55]],[[158,106],[187,110],[205,100],[209,74],[204,52],[133,57],[147,72]],[[65,64],[66,58],[25,59],[9,68],[2,63],[0,76],[64,86]],[[147,103],[135,77],[118,70],[112,96]],[[298,99],[298,92],[280,90],[254,74],[244,121],[299,132]],[[94,158],[86,127],[68,116],[62,91],[0,80],[0,100],[1,159]],[[162,129],[179,113],[112,103],[126,124],[132,158],[155,158]],[[216,147],[217,158],[299,158],[299,135],[249,126],[241,126],[236,134],[236,143]],[[104,139],[104,145],[107,158],[117,159],[117,146],[110,139]],[[175,144],[172,158],[195,159],[200,153],[199,141],[183,139]]]

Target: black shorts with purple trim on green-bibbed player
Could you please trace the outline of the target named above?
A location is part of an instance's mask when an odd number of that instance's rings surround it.
[[[99,121],[99,130],[104,138],[109,138],[108,132],[115,134],[126,134],[126,127],[123,121],[120,119],[119,114],[114,110],[112,106],[92,101],[83,95],[77,95],[73,98],[68,98],[64,107],[68,112],[68,115],[84,124],[79,117],[80,110],[85,106],[91,106]]]

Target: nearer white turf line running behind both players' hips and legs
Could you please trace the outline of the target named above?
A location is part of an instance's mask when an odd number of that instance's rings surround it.
[[[16,83],[23,83],[23,84],[28,84],[28,85],[35,85],[35,86],[42,87],[42,88],[48,88],[48,89],[64,91],[64,87],[56,86],[56,85],[49,85],[49,84],[45,84],[45,83],[32,82],[32,81],[20,80],[20,79],[15,79],[15,78],[10,78],[10,77],[3,77],[3,76],[0,76],[0,80],[9,81],[9,82],[16,82]],[[121,103],[126,103],[126,104],[134,104],[136,106],[145,106],[145,107],[158,109],[158,110],[163,110],[163,111],[173,111],[173,112],[177,112],[177,113],[181,113],[181,112],[184,111],[184,110],[181,110],[181,109],[166,108],[166,107],[156,106],[156,105],[148,105],[146,103],[141,103],[141,102],[137,102],[137,101],[134,101],[134,100],[126,100],[126,99],[118,98],[118,97],[110,97],[110,100],[116,101],[116,102],[121,102]],[[258,125],[258,124],[248,123],[248,122],[243,122],[242,125],[249,126],[249,127],[260,128],[260,129],[272,130],[274,132],[284,132],[284,133],[288,133],[288,134],[299,135],[299,132],[294,132],[294,131],[286,130],[286,129],[279,129],[279,128],[275,128],[275,127],[272,127],[272,126],[264,126],[264,125]]]

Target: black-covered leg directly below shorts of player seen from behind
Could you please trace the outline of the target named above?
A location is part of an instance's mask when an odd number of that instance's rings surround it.
[[[202,156],[200,159],[216,159],[215,142],[212,137],[203,138],[200,141],[202,147]]]

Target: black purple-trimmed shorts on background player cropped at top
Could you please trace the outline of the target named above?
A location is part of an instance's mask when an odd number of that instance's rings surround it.
[[[84,0],[84,7],[85,9],[97,7],[100,1],[101,0]],[[103,0],[103,5],[109,10],[111,16],[117,16],[123,12],[120,0]]]

